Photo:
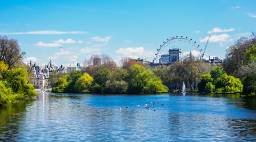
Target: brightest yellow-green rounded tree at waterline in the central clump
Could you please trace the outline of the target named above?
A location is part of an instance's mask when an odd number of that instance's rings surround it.
[[[78,92],[87,93],[90,92],[91,82],[93,78],[88,73],[83,73],[83,75],[76,81],[78,87]]]

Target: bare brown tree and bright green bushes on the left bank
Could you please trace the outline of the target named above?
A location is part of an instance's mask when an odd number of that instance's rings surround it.
[[[0,36],[0,104],[37,96],[34,86],[28,83],[24,55],[17,40]]]

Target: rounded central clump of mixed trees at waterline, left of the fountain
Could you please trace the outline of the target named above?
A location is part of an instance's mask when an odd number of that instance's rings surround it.
[[[101,64],[92,65],[96,57],[103,57]],[[131,58],[123,58],[123,65],[118,67],[106,54],[92,55],[85,60],[82,71],[72,71],[55,81],[53,92],[70,93],[160,93],[168,88],[162,80]],[[146,69],[147,68],[147,69]]]

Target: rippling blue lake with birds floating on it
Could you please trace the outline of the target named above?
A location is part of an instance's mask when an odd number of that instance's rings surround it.
[[[0,141],[256,141],[256,100],[238,95],[40,92],[37,98],[0,107]]]

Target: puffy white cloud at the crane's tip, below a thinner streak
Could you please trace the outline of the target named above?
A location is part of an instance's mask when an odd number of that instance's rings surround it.
[[[231,42],[232,39],[229,39],[230,35],[228,34],[222,34],[222,35],[211,35],[209,42],[218,43],[218,42]],[[209,36],[206,36],[203,39],[200,39],[200,42],[207,42]]]

